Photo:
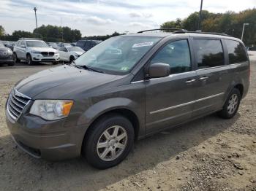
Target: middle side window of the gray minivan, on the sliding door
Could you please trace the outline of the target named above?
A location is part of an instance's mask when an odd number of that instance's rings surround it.
[[[206,69],[225,64],[220,40],[194,39],[193,42],[198,69]]]

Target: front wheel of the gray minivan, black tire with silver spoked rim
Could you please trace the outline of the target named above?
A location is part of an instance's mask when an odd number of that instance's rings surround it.
[[[113,136],[115,130],[117,132],[116,138]],[[105,134],[108,134],[110,139],[107,139]],[[123,138],[121,139],[121,137]],[[82,155],[94,168],[110,168],[118,165],[127,157],[133,147],[134,139],[135,133],[132,123],[126,117],[119,114],[106,114],[94,122],[86,134]],[[116,157],[113,153],[116,153]]]

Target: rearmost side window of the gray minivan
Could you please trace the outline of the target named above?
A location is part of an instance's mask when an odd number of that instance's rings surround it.
[[[244,46],[240,42],[227,39],[225,42],[227,44],[227,52],[230,64],[248,61]]]

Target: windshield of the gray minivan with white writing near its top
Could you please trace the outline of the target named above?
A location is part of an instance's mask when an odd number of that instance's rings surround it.
[[[126,74],[159,39],[148,36],[113,37],[85,52],[75,60],[75,64],[110,74]]]

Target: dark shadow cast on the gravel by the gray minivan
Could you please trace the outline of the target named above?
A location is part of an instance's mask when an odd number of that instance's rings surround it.
[[[49,190],[61,190],[60,187],[65,187],[65,190],[100,190],[141,171],[153,169],[158,163],[197,147],[203,141],[230,128],[239,117],[240,114],[236,114],[233,119],[222,120],[212,114],[167,130],[165,133],[157,133],[147,139],[136,141],[135,148],[126,160],[106,170],[92,168],[81,158],[54,163],[37,160],[16,148],[10,135],[4,136],[0,139],[0,145],[6,153],[3,156],[6,160],[0,157],[3,161],[0,167],[4,166],[0,172],[1,177],[4,177],[1,178],[0,184],[1,181],[8,182],[7,175],[10,175],[12,179],[17,176],[16,179],[21,183],[33,182],[22,184],[30,190],[41,187],[48,187]],[[20,182],[12,182],[8,188],[3,189],[15,189]]]

